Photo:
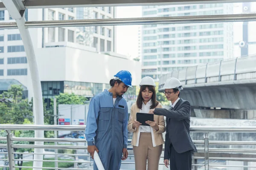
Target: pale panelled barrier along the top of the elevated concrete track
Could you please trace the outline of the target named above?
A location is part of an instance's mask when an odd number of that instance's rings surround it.
[[[185,87],[194,84],[229,82],[246,79],[256,79],[256,55],[241,58],[224,59],[217,62],[186,67],[178,71],[172,71],[164,74],[159,79],[159,89],[163,87],[166,79],[175,77]],[[246,67],[244,67],[246,65]],[[244,76],[244,74],[247,74]]]

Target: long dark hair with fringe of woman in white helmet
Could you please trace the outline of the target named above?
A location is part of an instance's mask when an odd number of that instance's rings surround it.
[[[136,101],[136,104],[137,104],[137,107],[139,109],[142,109],[142,102],[143,102],[143,98],[142,98],[142,94],[141,92],[144,91],[146,88],[148,88],[149,91],[152,91],[153,92],[153,95],[152,95],[152,98],[151,98],[151,106],[150,106],[150,109],[154,109],[157,107],[158,105],[158,101],[157,101],[157,95],[156,95],[156,90],[154,88],[154,86],[151,86],[151,85],[142,85],[140,87],[140,92],[139,92],[139,96],[137,97],[137,101]]]

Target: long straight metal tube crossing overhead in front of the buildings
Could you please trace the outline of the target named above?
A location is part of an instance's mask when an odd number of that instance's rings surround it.
[[[186,17],[143,17],[143,18],[114,18],[97,20],[53,20],[28,21],[26,28],[46,27],[79,27],[79,26],[122,26],[147,24],[178,24],[178,23],[218,23],[256,21],[256,14],[229,14],[229,15],[199,15]],[[16,23],[0,23],[0,29],[17,28]]]

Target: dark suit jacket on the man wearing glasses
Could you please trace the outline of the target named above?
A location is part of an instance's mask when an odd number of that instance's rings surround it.
[[[166,116],[166,141],[164,159],[170,158],[170,144],[177,153],[184,153],[189,150],[197,152],[195,144],[189,136],[190,127],[189,101],[180,99],[173,109],[156,108],[154,114]]]

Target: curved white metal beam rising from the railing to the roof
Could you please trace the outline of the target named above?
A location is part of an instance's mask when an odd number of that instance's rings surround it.
[[[2,0],[7,10],[13,19],[16,20],[17,28],[20,31],[20,36],[23,41],[23,45],[26,51],[26,57],[29,65],[29,72],[32,80],[33,89],[33,106],[34,106],[34,116],[35,125],[44,125],[44,107],[43,107],[43,97],[41,90],[41,82],[39,78],[38,66],[35,58],[35,51],[31,36],[29,34],[28,28],[25,28],[26,20],[23,17],[25,7],[20,0]],[[35,130],[36,138],[44,138],[43,130]],[[44,142],[35,142],[35,144],[44,144]],[[41,148],[35,148],[35,153],[43,153],[44,150]],[[43,160],[43,155],[34,155],[35,160]],[[42,161],[34,161],[33,167],[43,167]],[[38,169],[34,169],[38,170]]]

